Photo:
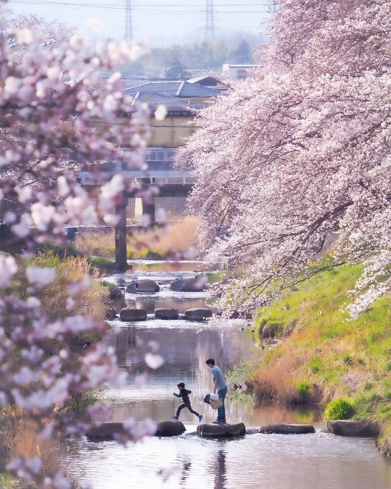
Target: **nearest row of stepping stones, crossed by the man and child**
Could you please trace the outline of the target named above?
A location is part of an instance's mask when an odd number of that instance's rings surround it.
[[[186,431],[182,421],[160,421],[156,423],[156,437],[174,437]],[[347,437],[372,437],[380,435],[380,426],[377,423],[354,420],[333,420],[328,421],[327,431],[332,434]],[[121,433],[125,433],[122,423],[103,423],[97,428],[91,429],[87,437],[92,440],[115,440]],[[262,434],[306,434],[315,433],[315,427],[311,424],[288,424],[277,423],[268,426],[261,426],[250,433]],[[202,438],[227,438],[240,437],[246,434],[246,427],[243,423],[202,423],[197,426],[197,434]]]

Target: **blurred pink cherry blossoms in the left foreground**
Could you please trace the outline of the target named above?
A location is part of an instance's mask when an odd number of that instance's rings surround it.
[[[78,183],[80,158],[99,177],[102,164],[121,159],[143,164],[149,113],[123,94],[120,64],[136,60],[143,47],[125,42],[102,43],[93,49],[85,36],[57,37],[42,49],[42,33],[10,25],[0,11],[0,202],[6,230],[2,250],[26,246],[27,259],[49,235],[61,242],[68,223],[115,225],[114,206],[133,191],[131,181],[115,175],[90,195]],[[15,59],[15,49],[20,56]],[[114,74],[100,80],[102,70]],[[119,119],[120,117],[120,119]],[[121,147],[131,148],[122,153]],[[17,409],[30,415],[41,439],[65,431],[77,438],[91,422],[54,409],[80,392],[124,381],[114,351],[93,344],[83,355],[71,351],[70,339],[81,333],[103,335],[105,325],[76,314],[77,297],[89,287],[88,273],[66,281],[51,266],[26,263],[24,257],[0,254],[0,404],[3,413]],[[47,291],[63,284],[61,317],[42,307]],[[59,283],[60,283],[59,282]],[[155,351],[146,362],[155,368]],[[104,404],[88,414],[106,419]],[[5,417],[2,423],[5,423]],[[95,422],[96,423],[96,422]],[[152,422],[128,419],[118,440],[152,433]],[[39,458],[3,460],[2,470],[48,487],[70,487],[61,472],[42,473]]]

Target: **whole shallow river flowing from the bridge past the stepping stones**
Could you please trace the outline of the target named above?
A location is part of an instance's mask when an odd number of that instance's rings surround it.
[[[205,266],[195,263],[133,263],[133,276],[112,276],[116,283],[150,278],[160,285],[156,294],[125,294],[129,306],[177,307],[180,313],[208,304],[207,292],[172,292],[169,280],[190,277]],[[212,389],[205,360],[215,359],[227,372],[241,359],[262,355],[254,346],[259,340],[239,321],[224,331],[207,323],[185,320],[142,322],[111,321],[115,328],[108,344],[116,350],[118,363],[127,373],[121,389],[111,389],[113,421],[129,416],[137,421],[171,419],[180,401],[173,396],[183,381],[192,392],[192,408],[203,414],[202,422],[215,419],[215,411],[203,402]],[[144,361],[150,342],[157,342],[164,364],[159,369]],[[155,343],[153,343],[155,345]],[[146,375],[144,386],[136,379]],[[287,408],[270,403],[254,406],[249,395],[229,392],[227,422],[243,422],[251,434],[238,439],[202,439],[195,434],[198,419],[186,409],[180,419],[186,432],[179,437],[147,437],[126,447],[116,442],[82,440],[72,456],[72,471],[94,489],[391,489],[390,460],[379,453],[374,439],[343,438],[325,430],[318,410]],[[255,428],[276,423],[310,423],[315,434],[264,435]]]

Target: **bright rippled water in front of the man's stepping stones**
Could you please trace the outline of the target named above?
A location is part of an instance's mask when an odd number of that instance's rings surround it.
[[[209,440],[189,434],[126,447],[82,441],[77,459],[94,489],[389,489],[388,458],[374,440],[252,434]],[[173,471],[173,469],[177,469]],[[164,480],[164,474],[172,474]]]

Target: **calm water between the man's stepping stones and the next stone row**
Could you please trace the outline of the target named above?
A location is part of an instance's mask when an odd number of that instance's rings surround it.
[[[121,324],[124,325],[120,331],[110,335],[108,340],[108,345],[116,351],[119,365],[127,373],[126,385],[108,392],[114,403],[115,421],[122,421],[132,413],[137,420],[146,416],[155,420],[170,418],[178,403],[173,396],[178,382],[184,382],[192,391],[192,408],[202,413],[205,421],[213,421],[215,413],[203,402],[205,395],[212,390],[211,372],[205,360],[213,356],[227,372],[233,364],[248,355],[256,341],[253,333],[238,328],[221,334],[218,329],[206,329],[206,323],[184,320]],[[158,343],[159,353],[165,360],[157,370],[148,368],[144,360],[150,341]],[[143,374],[147,382],[141,389],[137,385],[137,378]],[[232,421],[244,419],[249,422],[253,404],[239,403],[237,408],[232,405],[228,416]],[[191,413],[184,410],[182,414],[183,422],[194,422]]]

